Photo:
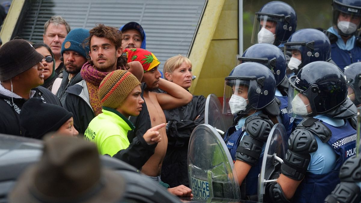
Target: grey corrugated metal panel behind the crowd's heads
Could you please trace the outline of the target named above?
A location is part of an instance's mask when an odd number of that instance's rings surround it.
[[[71,29],[92,29],[96,23],[120,27],[139,22],[147,36],[147,49],[164,62],[187,55],[205,0],[31,0],[18,36],[42,42],[44,23],[60,15]]]

